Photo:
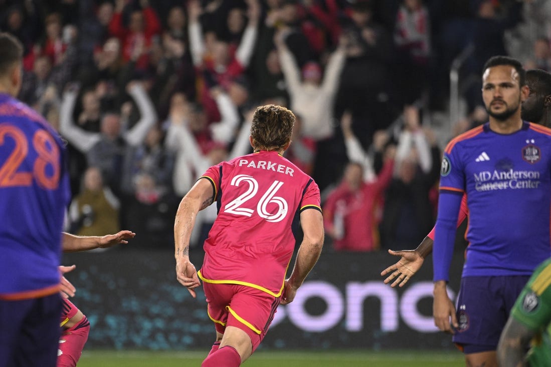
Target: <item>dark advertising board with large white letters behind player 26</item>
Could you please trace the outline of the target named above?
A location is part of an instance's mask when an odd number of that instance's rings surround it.
[[[201,266],[202,254],[192,251]],[[279,306],[262,348],[452,348],[432,314],[432,259],[403,288],[382,283],[397,258],[380,253],[322,254],[294,302]],[[294,260],[293,260],[294,262]],[[291,262],[291,264],[293,264]],[[450,288],[458,291],[456,254]],[[197,299],[175,277],[171,251],[111,249],[64,255],[73,303],[91,324],[87,349],[197,349],[214,341],[204,294]]]

